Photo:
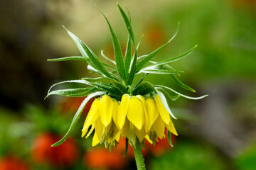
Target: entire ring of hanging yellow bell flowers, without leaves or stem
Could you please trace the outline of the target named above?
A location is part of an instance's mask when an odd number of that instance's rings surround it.
[[[134,146],[137,138],[139,142],[146,138],[150,143],[162,139],[165,128],[178,135],[159,95],[145,99],[141,95],[124,94],[118,102],[105,94],[93,101],[82,128],[82,137],[86,133],[89,137],[95,130],[92,146],[99,143],[104,143],[105,147],[116,146],[120,135],[127,137]]]

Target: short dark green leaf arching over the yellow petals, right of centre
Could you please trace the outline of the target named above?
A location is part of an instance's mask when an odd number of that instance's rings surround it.
[[[146,94],[151,94],[154,92],[156,92],[156,90],[153,84],[149,83],[148,81],[144,81],[141,84],[139,84],[132,93],[134,96],[136,96],[137,94],[144,96]]]

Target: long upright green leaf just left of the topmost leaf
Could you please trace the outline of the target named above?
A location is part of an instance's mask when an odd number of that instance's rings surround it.
[[[100,11],[100,8],[98,8],[98,10]],[[100,13],[102,13],[102,11],[100,11]],[[113,30],[112,26],[110,25],[110,22],[108,21],[105,14],[102,13],[102,15],[106,19],[107,24],[110,28],[112,43],[113,43],[113,47],[114,47],[114,59],[115,59],[115,62],[117,64],[117,71],[118,71],[120,77],[123,80],[125,80],[126,77],[125,77],[125,70],[124,70],[124,58],[123,58],[123,55],[122,55],[122,49],[121,49],[119,40],[117,39],[117,35],[114,33],[114,30]]]

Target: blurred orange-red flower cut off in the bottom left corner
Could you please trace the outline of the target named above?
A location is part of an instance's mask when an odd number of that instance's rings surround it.
[[[28,170],[28,165],[17,157],[4,157],[0,161],[0,170]]]

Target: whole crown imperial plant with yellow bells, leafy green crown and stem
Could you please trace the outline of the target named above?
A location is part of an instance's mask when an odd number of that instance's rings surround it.
[[[82,128],[82,137],[85,136],[87,138],[94,132],[92,146],[100,143],[104,144],[105,147],[110,148],[117,146],[120,137],[125,137],[126,152],[129,143],[134,149],[134,155],[137,158],[137,166],[140,169],[145,169],[141,154],[142,151],[140,149],[141,147],[144,147],[144,139],[154,145],[155,140],[157,141],[159,138],[162,139],[165,137],[164,131],[167,129],[167,138],[170,145],[172,145],[171,133],[178,135],[171,120],[171,117],[175,118],[175,116],[171,113],[168,101],[175,101],[180,96],[193,100],[201,99],[205,96],[186,96],[168,86],[151,84],[148,81],[144,81],[144,78],[148,74],[169,75],[174,80],[175,84],[181,88],[195,92],[191,87],[183,84],[183,82],[178,79],[177,76],[183,71],[178,71],[169,64],[181,60],[183,57],[191,54],[197,45],[192,47],[191,50],[176,57],[160,62],[152,61],[156,54],[166,47],[166,45],[169,45],[171,40],[175,38],[178,33],[178,24],[176,32],[164,45],[148,55],[137,56],[137,50],[142,38],[138,42],[135,41],[130,16],[127,16],[119,4],[117,4],[117,6],[128,30],[127,48],[124,55],[122,54],[119,40],[110,25],[110,22],[105,14],[99,9],[110,28],[114,48],[114,61],[110,60],[110,58],[102,51],[101,55],[108,63],[102,62],[99,57],[90,50],[85,42],[82,42],[82,40],[66,28],[65,30],[67,30],[68,35],[70,35],[78,46],[78,50],[80,50],[82,56],[48,60],[53,62],[67,60],[84,61],[87,62],[87,69],[90,72],[100,75],[100,77],[97,78],[62,81],[50,87],[46,97],[53,94],[71,97],[86,97],[78,108],[77,113],[75,113],[68,132],[53,146],[58,146],[65,141],[73,130],[75,124],[78,122],[87,102],[90,101],[91,98],[96,98],[85,119],[85,124]],[[134,82],[134,77],[139,76],[141,76],[141,79],[139,79],[138,82]],[[51,91],[54,86],[64,83],[78,83],[85,86],[82,88]],[[171,96],[169,94],[170,91],[176,94],[176,96]]]

